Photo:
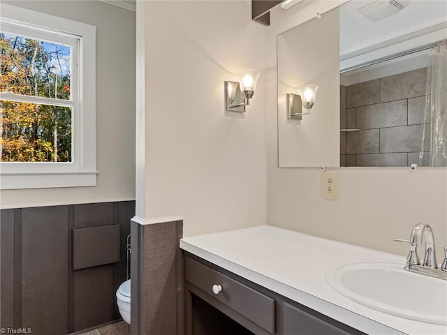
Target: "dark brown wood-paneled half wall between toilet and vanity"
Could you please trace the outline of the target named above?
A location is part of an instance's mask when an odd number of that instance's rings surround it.
[[[132,335],[184,334],[182,235],[183,221],[131,223]]]

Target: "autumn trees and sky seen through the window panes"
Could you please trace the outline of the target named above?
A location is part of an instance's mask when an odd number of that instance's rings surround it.
[[[0,34],[0,89],[70,99],[70,49]],[[71,161],[71,108],[0,101],[1,161]]]

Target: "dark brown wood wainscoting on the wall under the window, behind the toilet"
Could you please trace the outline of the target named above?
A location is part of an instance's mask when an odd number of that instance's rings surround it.
[[[134,201],[1,209],[0,328],[61,335],[120,318],[115,292],[126,280],[126,237],[134,214]],[[96,257],[96,266],[83,262],[85,268],[73,270],[73,228],[114,224],[119,242],[110,241],[110,248],[119,248],[119,262],[105,264],[117,258],[107,257],[103,241],[103,263]]]

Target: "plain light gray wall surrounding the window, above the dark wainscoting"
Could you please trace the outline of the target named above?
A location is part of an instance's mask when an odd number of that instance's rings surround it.
[[[1,208],[135,200],[135,12],[100,1],[3,1],[96,26],[95,187],[1,191]]]

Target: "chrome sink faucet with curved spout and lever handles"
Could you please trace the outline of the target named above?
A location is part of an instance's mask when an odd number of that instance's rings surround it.
[[[404,269],[434,278],[447,280],[447,248],[444,248],[444,262],[441,269],[438,269],[436,252],[434,250],[434,236],[430,225],[418,223],[411,232],[410,239],[395,239],[396,242],[406,242],[410,244],[410,252],[406,256],[406,265]],[[425,255],[423,264],[420,264],[418,255],[418,246],[425,241]]]

